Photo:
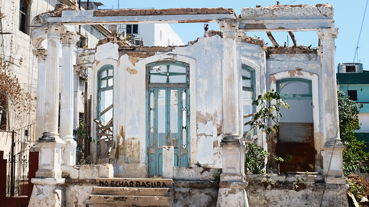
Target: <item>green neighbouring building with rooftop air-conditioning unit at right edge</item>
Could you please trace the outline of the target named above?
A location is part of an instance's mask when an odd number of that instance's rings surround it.
[[[369,152],[369,71],[363,70],[361,63],[340,63],[337,68],[337,84],[339,90],[360,104],[359,123],[360,130],[355,130],[355,137],[365,141]]]

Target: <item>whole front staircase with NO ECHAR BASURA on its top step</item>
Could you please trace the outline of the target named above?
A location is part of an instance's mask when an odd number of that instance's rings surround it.
[[[96,178],[86,207],[170,207],[171,179]]]

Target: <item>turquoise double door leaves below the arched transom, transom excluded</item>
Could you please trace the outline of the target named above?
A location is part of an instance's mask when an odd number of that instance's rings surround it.
[[[174,147],[174,166],[188,167],[190,158],[189,93],[184,87],[148,90],[147,163],[150,176],[163,174],[163,146]]]

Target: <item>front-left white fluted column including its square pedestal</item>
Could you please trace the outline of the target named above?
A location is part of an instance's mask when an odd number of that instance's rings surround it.
[[[60,178],[62,147],[65,144],[58,136],[59,110],[59,44],[60,23],[48,24],[46,81],[43,136],[37,141],[40,146],[39,170],[36,177]]]

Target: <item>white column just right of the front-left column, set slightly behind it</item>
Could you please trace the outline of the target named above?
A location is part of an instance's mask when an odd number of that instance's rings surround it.
[[[62,69],[60,93],[60,138],[66,142],[63,150],[62,165],[76,165],[77,143],[73,139],[73,91],[74,91],[74,69],[73,69],[73,47],[80,36],[74,32],[64,32],[60,36],[62,41]]]

